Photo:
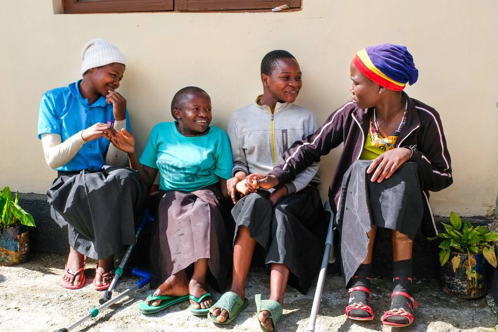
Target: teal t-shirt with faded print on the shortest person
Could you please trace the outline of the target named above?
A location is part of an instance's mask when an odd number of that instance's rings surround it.
[[[142,165],[159,170],[162,190],[194,190],[232,177],[228,135],[211,126],[203,136],[185,137],[175,122],[157,123],[140,157]]]

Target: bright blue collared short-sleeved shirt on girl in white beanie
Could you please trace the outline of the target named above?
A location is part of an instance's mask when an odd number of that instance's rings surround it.
[[[56,88],[43,94],[40,100],[38,117],[38,138],[42,134],[61,135],[64,142],[80,130],[91,127],[97,122],[114,121],[113,104],[107,104],[106,97],[100,98],[92,105],[80,93],[81,80],[67,87]],[[126,110],[126,129],[129,131],[128,111]],[[71,161],[56,168],[57,171],[79,171],[82,169],[97,171],[105,165],[105,157],[110,141],[100,137],[84,144]]]

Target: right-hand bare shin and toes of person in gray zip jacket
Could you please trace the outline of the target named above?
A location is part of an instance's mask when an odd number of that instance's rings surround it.
[[[278,302],[283,307],[283,297],[285,295],[285,288],[289,280],[289,268],[284,264],[271,264],[270,272],[270,300]],[[266,331],[274,331],[273,324],[268,318],[270,315],[266,310],[259,313],[258,319],[261,326]]]

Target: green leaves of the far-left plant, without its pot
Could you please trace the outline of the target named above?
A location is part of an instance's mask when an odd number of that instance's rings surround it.
[[[34,226],[33,216],[19,206],[19,194],[15,193],[13,197],[8,187],[0,192],[0,213],[1,229],[19,224]]]

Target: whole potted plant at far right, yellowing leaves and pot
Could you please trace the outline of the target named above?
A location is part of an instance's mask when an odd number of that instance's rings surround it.
[[[487,288],[486,261],[497,267],[495,241],[498,234],[488,226],[473,226],[467,219],[462,222],[454,212],[450,214],[450,223],[442,222],[445,231],[429,238],[442,239],[439,263],[443,290],[466,299],[481,297]]]

